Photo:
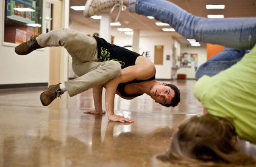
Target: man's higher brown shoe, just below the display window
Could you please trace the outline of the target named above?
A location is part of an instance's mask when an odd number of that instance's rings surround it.
[[[38,45],[37,40],[35,38],[37,38],[37,36],[31,36],[29,41],[21,43],[18,46],[16,46],[15,52],[18,55],[27,55],[35,49],[43,48]]]

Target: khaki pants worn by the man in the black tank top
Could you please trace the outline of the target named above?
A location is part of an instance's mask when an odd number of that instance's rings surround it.
[[[41,47],[63,46],[71,55],[73,71],[79,77],[65,81],[70,97],[104,84],[121,73],[121,66],[117,61],[98,61],[96,39],[84,33],[57,29],[41,34],[37,42]]]

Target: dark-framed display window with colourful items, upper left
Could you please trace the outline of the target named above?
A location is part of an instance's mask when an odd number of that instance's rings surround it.
[[[4,42],[23,43],[42,33],[43,0],[5,0]]]

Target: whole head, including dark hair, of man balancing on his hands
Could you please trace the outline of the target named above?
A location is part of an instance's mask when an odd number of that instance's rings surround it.
[[[180,90],[173,84],[155,84],[151,87],[150,96],[156,103],[166,107],[175,107],[180,102]]]

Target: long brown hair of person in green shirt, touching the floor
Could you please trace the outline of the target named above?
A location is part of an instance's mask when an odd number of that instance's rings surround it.
[[[191,117],[174,133],[169,151],[158,159],[179,165],[253,165],[254,158],[236,148],[231,118],[210,114]]]

